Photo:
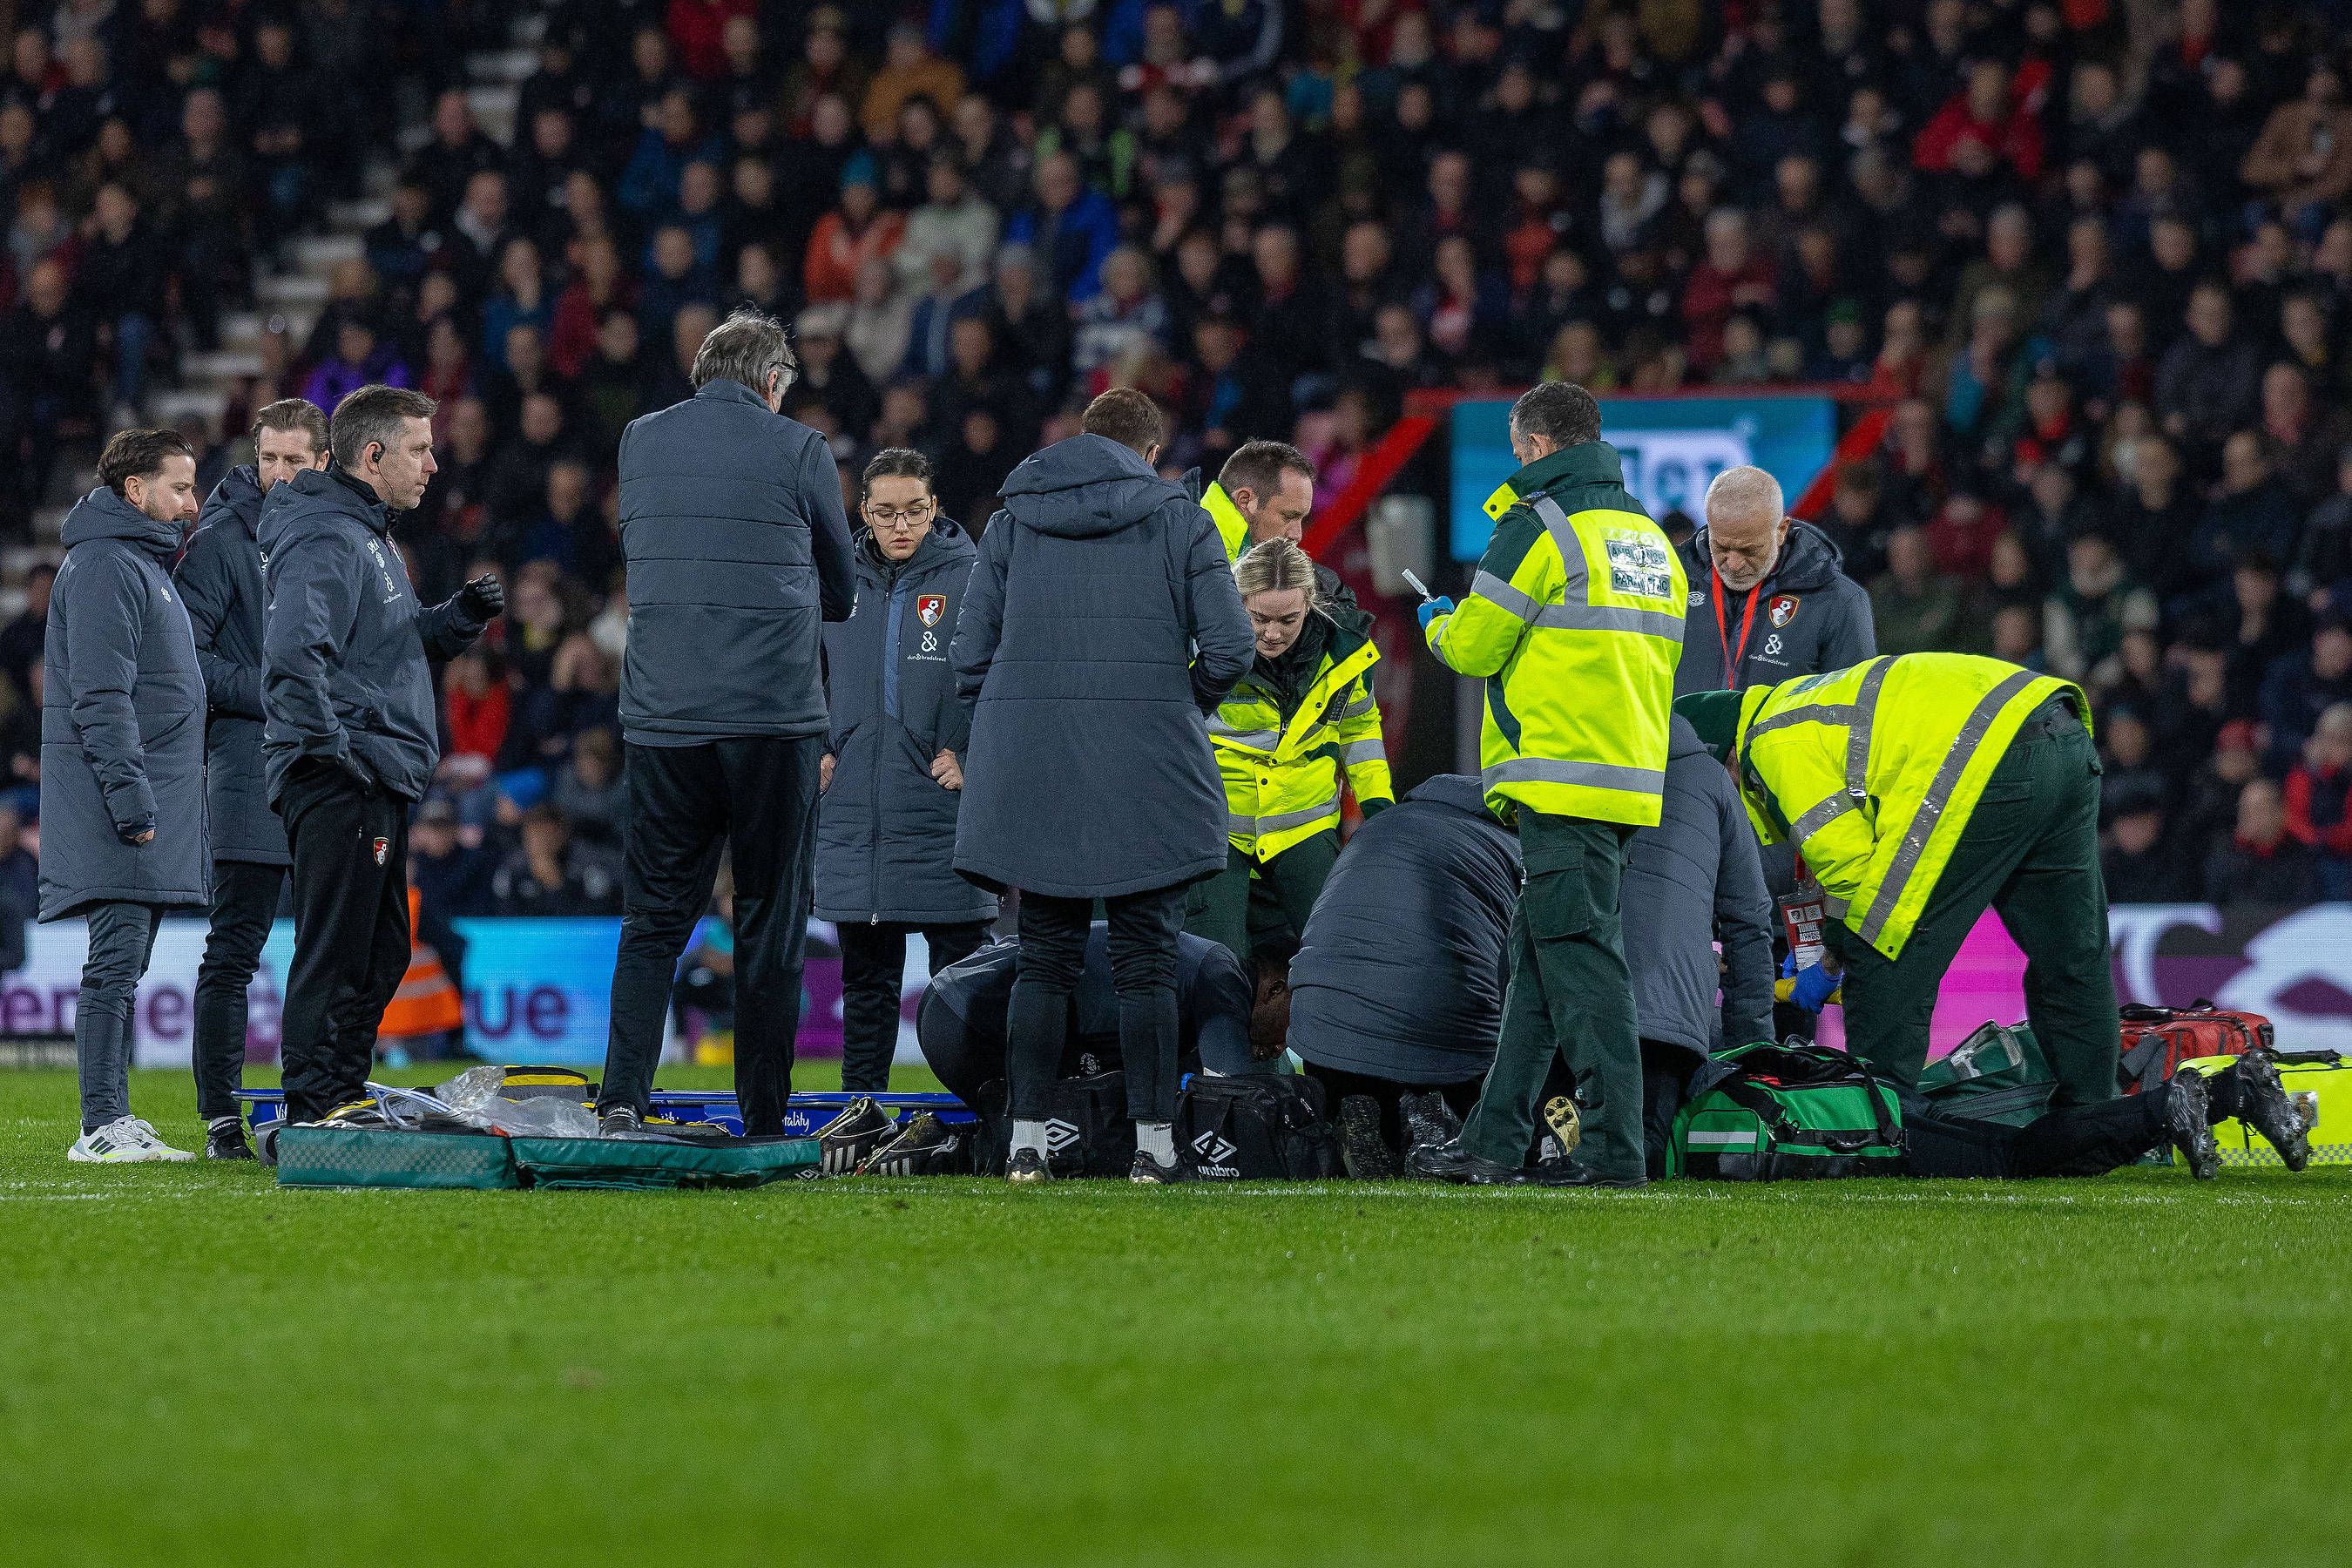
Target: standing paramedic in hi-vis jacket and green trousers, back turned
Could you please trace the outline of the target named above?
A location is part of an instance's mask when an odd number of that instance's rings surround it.
[[[1618,929],[1625,844],[1653,827],[1689,583],[1675,545],[1625,491],[1602,411],[1548,381],[1510,409],[1522,468],[1486,510],[1470,597],[1421,607],[1430,651],[1486,682],[1479,776],[1519,823],[1526,882],[1510,922],[1503,1039],[1454,1143],[1416,1175],[1522,1182],[1552,1056],[1578,1081],[1583,1147],[1543,1180],[1639,1187],[1642,1046]],[[1545,1107],[1564,1126],[1573,1107]]]

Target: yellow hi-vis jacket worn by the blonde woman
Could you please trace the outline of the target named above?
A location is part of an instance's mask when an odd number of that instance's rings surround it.
[[[1381,649],[1322,611],[1327,644],[1291,717],[1251,668],[1209,719],[1216,771],[1225,780],[1225,839],[1272,860],[1291,844],[1338,827],[1338,780],[1357,804],[1395,799],[1371,668]]]

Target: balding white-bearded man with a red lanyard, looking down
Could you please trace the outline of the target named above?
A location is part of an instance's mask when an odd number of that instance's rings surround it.
[[[1691,609],[1675,696],[1771,686],[1879,651],[1870,595],[1837,545],[1780,508],[1780,482],[1762,468],[1726,468],[1708,487],[1708,522],[1682,545]]]

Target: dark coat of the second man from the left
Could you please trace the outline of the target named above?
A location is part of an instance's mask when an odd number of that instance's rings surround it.
[[[261,583],[261,475],[230,468],[212,487],[195,538],[174,571],[195,630],[205,672],[205,799],[212,809],[212,858],[292,865],[287,827],[270,809],[261,778],[261,632],[268,590]]]

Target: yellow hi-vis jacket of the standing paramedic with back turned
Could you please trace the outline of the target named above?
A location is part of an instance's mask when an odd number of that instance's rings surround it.
[[[1486,677],[1486,804],[1656,827],[1689,609],[1675,545],[1606,442],[1529,463],[1486,512],[1470,595],[1428,630],[1446,668]]]

